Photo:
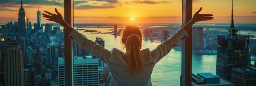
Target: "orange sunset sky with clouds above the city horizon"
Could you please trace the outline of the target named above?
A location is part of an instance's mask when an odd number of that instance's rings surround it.
[[[0,0],[0,23],[18,21],[21,0]],[[193,0],[193,14],[201,6],[202,14],[214,19],[200,23],[230,23],[232,0]],[[256,23],[256,0],[234,0],[235,23]],[[64,16],[64,0],[23,0],[26,18],[36,23],[37,11]],[[181,23],[182,0],[74,0],[75,23]],[[131,20],[134,18],[134,20]],[[42,23],[47,21],[41,15]]]

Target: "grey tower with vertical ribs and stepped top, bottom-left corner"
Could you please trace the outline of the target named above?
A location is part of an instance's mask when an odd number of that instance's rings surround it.
[[[23,56],[19,43],[13,40],[8,44],[5,58],[5,85],[23,86]]]

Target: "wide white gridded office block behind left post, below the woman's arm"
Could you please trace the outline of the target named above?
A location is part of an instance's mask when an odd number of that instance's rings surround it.
[[[59,86],[64,86],[64,58],[58,58]],[[98,59],[74,57],[74,86],[98,86]]]

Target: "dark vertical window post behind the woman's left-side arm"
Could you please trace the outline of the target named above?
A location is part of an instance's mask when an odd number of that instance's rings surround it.
[[[64,20],[74,28],[74,0],[64,0]],[[74,86],[73,42],[68,38],[69,32],[64,29],[65,85]]]

